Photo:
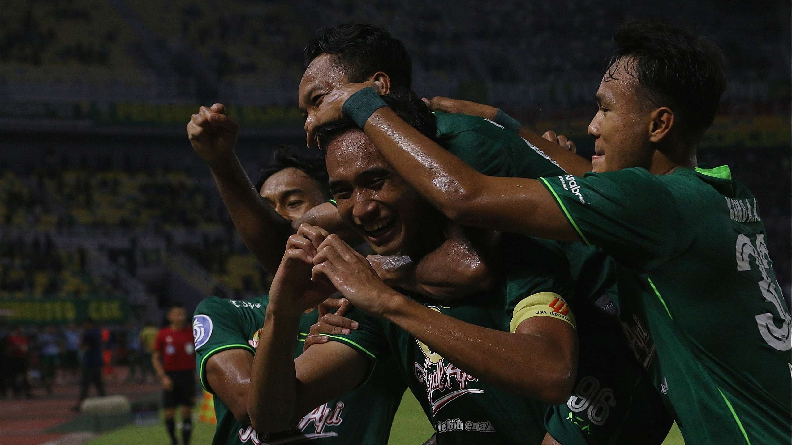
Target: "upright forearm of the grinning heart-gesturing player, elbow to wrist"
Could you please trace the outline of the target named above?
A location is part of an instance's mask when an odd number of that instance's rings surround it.
[[[273,308],[274,309],[274,308]],[[297,406],[294,342],[299,314],[268,310],[250,370],[248,415],[258,432],[279,432],[291,426]]]

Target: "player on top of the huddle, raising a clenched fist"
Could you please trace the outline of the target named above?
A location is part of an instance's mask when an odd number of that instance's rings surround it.
[[[299,105],[312,120],[316,105],[335,87],[375,79],[383,93],[406,94],[411,86],[412,64],[401,41],[371,25],[339,25],[310,40],[304,52],[306,71],[299,86]],[[397,91],[401,90],[401,91]],[[526,143],[519,136],[478,116],[436,113],[438,142],[482,173],[495,176],[542,177],[562,174],[543,150],[562,150],[544,139]],[[330,203],[314,207],[289,224],[258,195],[247,178],[234,144],[238,128],[225,116],[223,105],[202,107],[188,124],[193,148],[207,162],[223,202],[242,240],[261,264],[274,271],[280,264],[287,237],[303,222],[322,226],[355,244],[357,239]],[[208,143],[208,134],[216,135]],[[495,236],[489,231],[466,230],[429,253],[413,268],[402,285],[425,295],[461,295],[488,289],[493,283],[488,267]],[[470,267],[473,265],[474,267]],[[440,275],[436,275],[440,274]]]

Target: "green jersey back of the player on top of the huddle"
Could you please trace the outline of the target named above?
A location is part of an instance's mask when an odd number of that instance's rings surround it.
[[[538,147],[491,120],[446,112],[435,118],[437,143],[479,173],[534,179],[564,173]]]

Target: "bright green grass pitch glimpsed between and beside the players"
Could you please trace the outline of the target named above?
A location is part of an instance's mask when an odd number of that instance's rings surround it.
[[[214,425],[196,422],[192,434],[192,445],[208,445],[215,432]],[[390,445],[420,445],[432,435],[432,426],[426,420],[421,405],[409,392],[396,413],[390,432]],[[137,426],[128,425],[93,439],[88,445],[139,445],[140,443],[168,443],[162,424]],[[663,445],[683,445],[682,435],[674,425]]]

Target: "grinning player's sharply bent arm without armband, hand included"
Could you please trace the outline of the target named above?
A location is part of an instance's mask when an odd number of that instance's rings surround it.
[[[359,386],[370,367],[360,352],[338,343],[317,345],[292,358],[303,311],[332,291],[310,280],[315,253],[310,241],[292,235],[272,280],[250,374],[248,413],[258,432],[291,427],[311,409]]]

